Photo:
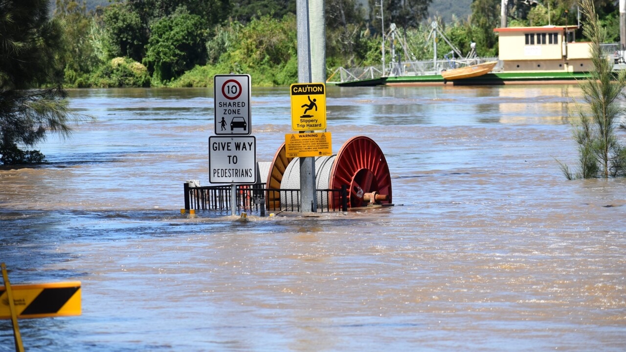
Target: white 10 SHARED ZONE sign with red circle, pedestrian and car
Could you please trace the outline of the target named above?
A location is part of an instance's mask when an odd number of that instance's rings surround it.
[[[215,75],[215,134],[250,135],[250,75]]]

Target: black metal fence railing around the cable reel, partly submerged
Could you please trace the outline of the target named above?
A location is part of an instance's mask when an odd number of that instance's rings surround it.
[[[229,210],[232,209],[232,189],[230,185],[192,187],[183,184],[185,210]],[[265,210],[299,212],[299,189],[267,189],[265,184],[236,185],[235,208],[237,211],[259,212]],[[347,211],[347,186],[341,189],[318,189],[317,211]]]

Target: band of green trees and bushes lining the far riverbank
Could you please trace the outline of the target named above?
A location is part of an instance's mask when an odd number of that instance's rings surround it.
[[[143,76],[134,77],[125,70],[126,64],[121,68],[111,66],[110,60],[117,57],[144,63],[154,85],[197,86],[205,81],[210,85],[211,81],[202,77],[207,71],[250,73],[255,75],[255,85],[289,84],[297,78],[294,1],[111,0],[110,6],[93,14],[86,13],[85,3],[80,1],[86,1],[87,8],[94,8],[94,2],[101,0],[56,1],[56,14],[66,22],[68,51],[61,55],[66,63],[64,68],[55,70],[71,86],[145,85]],[[326,1],[329,70],[337,66],[381,65],[381,9],[376,6],[379,3]],[[466,7],[464,11],[453,11],[462,16],[462,21],[449,16],[451,20],[441,24],[454,46],[468,53],[469,44],[475,42],[479,56],[497,56],[498,37],[493,28],[500,26],[500,0],[447,0],[432,6],[431,3],[431,0],[382,1],[386,29],[396,23],[400,28],[396,38],[408,43],[412,60],[433,58],[432,43],[426,43],[430,27],[424,26],[423,20],[428,8],[438,12],[442,4],[448,8]],[[610,0],[594,3],[600,9],[602,25],[608,29],[607,40],[616,40],[615,4]],[[369,4],[369,23],[363,4]],[[527,26],[530,21],[533,25],[576,21],[577,0],[546,0],[541,4],[509,1],[508,4],[510,26]],[[549,17],[547,6],[550,6]],[[464,14],[469,11],[471,16],[466,18]],[[435,20],[441,23],[441,19]],[[577,38],[583,36],[577,33]],[[387,50],[389,42],[387,39]],[[396,43],[398,51],[399,48]],[[438,57],[451,50],[441,40],[437,49]],[[205,70],[203,65],[210,68]]]

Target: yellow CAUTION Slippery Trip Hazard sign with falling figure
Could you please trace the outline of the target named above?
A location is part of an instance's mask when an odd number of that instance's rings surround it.
[[[294,83],[291,95],[291,128],[294,131],[326,130],[326,85]]]

